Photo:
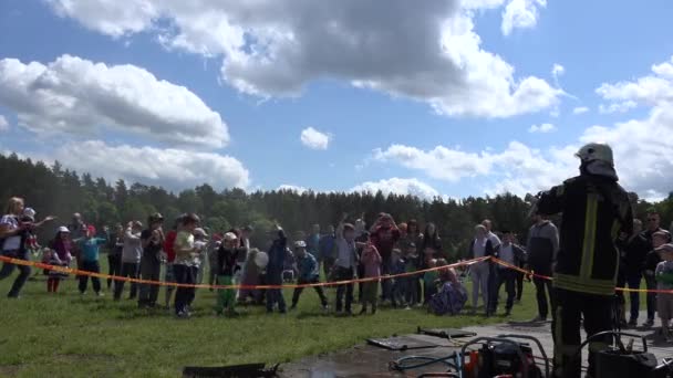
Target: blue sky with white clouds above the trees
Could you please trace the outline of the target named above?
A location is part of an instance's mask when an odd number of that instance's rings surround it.
[[[673,2],[2,0],[0,153],[173,191],[673,189]]]

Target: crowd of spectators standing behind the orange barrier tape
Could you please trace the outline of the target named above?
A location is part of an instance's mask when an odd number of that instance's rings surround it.
[[[466,275],[473,282],[470,314],[476,314],[482,298],[485,314],[495,315],[504,288],[505,315],[508,316],[515,303],[520,302],[527,279],[535,284],[538,304],[538,316],[532,321],[543,322],[550,312],[555,312],[551,281],[547,277],[552,275],[559,251],[559,231],[542,214],[532,214],[534,224],[525,244],[519,244],[517,234],[511,231],[494,232],[489,220],[475,227],[468,258],[497,256],[505,264],[487,260],[467,270],[433,270],[417,274],[418,271],[449,263],[444,258],[437,227],[427,223],[422,232],[415,220],[397,224],[391,214],[380,213],[374,224],[366,228],[363,218],[349,223],[349,217],[344,214],[336,227],[328,225],[324,233],[319,224],[313,224],[308,234],[298,232],[294,241],[290,241],[286,231],[277,225],[268,230],[268,245],[260,250],[250,245],[252,227],[209,235],[207,229],[199,227],[196,214],[180,216],[166,232],[164,218],[158,213],[152,214],[146,224],[135,220],[126,225],[117,224],[113,230],[104,227],[99,232],[75,213],[71,223],[58,227],[53,240],[41,248],[34,235],[35,230],[54,218],[46,217],[37,222],[35,211],[24,208],[22,199],[12,198],[7,214],[0,221],[0,238],[4,255],[24,260],[40,255],[42,262],[56,266],[76,266],[82,271],[99,273],[100,251],[104,248],[110,275],[182,284],[201,284],[206,277],[209,285],[241,285],[239,290],[218,290],[215,304],[217,314],[236,315],[237,305],[263,304],[265,298],[268,312],[277,309],[286,313],[288,308],[281,290],[260,290],[257,286],[287,282],[319,284],[321,272],[328,283],[358,277],[380,279],[336,285],[334,309],[338,314],[352,314],[354,303],[361,304],[361,314],[367,311],[376,313],[379,304],[383,303],[394,308],[425,305],[433,313],[455,315],[468,301],[460,280]],[[659,266],[662,256],[656,252],[670,248],[671,233],[660,227],[656,212],[649,213],[646,220],[645,230],[642,230],[641,221],[635,220],[633,233],[622,235],[618,241],[622,262],[618,284],[640,288],[644,277],[646,288],[673,288],[673,283],[666,281],[669,279],[658,277],[658,270],[663,267]],[[163,265],[165,274],[161,277]],[[512,266],[535,274],[527,275]],[[8,294],[10,297],[19,295],[30,276],[28,266],[6,263],[0,279],[9,276],[14,267],[19,269],[20,274]],[[68,277],[61,270],[45,270],[43,273],[48,276],[46,291],[50,293],[59,292],[60,282]],[[404,273],[406,275],[398,276]],[[387,279],[391,275],[394,279]],[[103,296],[100,280],[89,275],[77,276],[80,293],[86,293],[90,279],[95,295]],[[139,307],[157,306],[159,285],[132,282],[130,286],[128,300],[136,300]],[[107,290],[113,293],[115,301],[122,298],[124,287],[124,281],[107,279]],[[324,311],[330,308],[325,295],[328,287],[312,286]],[[290,309],[296,308],[303,290],[294,290]],[[658,312],[656,296],[654,293],[648,294],[645,326],[653,325]],[[174,288],[166,285],[163,305],[170,308],[173,303],[176,316],[188,317],[194,297],[193,287]],[[619,295],[619,298],[623,308],[624,295]],[[631,293],[630,300],[631,317],[629,322],[622,318],[622,326],[635,326],[638,322],[638,293]],[[673,315],[669,307],[659,307],[663,318]],[[625,312],[621,314],[624,316]]]

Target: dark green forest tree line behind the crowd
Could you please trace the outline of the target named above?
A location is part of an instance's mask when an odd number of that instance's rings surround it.
[[[465,256],[472,240],[473,228],[483,219],[490,219],[496,230],[517,232],[525,240],[530,225],[530,200],[505,193],[496,197],[468,197],[462,200],[423,200],[413,196],[382,192],[296,192],[271,190],[247,192],[242,189],[216,191],[209,185],[172,192],[156,186],[124,180],[107,182],[91,174],[79,175],[58,161],[48,166],[42,161],[21,159],[15,154],[0,155],[0,203],[18,196],[34,208],[40,219],[46,214],[59,217],[56,223],[68,223],[73,212],[80,212],[85,222],[96,227],[145,221],[147,216],[161,212],[168,224],[180,213],[196,212],[203,225],[221,232],[232,227],[250,224],[256,230],[268,230],[275,222],[296,234],[310,230],[311,224],[335,224],[346,212],[352,220],[364,214],[371,224],[382,211],[393,214],[396,222],[416,219],[421,224],[434,222],[442,238],[443,253],[454,260]],[[673,192],[663,201],[650,203],[631,193],[638,217],[655,209],[661,213],[662,225],[673,221]],[[53,230],[41,231],[41,239],[52,238]],[[256,232],[251,242],[263,245],[266,232]]]

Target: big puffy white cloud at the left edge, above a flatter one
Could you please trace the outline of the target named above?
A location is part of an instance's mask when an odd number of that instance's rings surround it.
[[[229,140],[220,115],[198,96],[134,65],[70,55],[46,65],[3,59],[0,104],[40,135],[93,136],[110,127],[180,146],[222,147]]]

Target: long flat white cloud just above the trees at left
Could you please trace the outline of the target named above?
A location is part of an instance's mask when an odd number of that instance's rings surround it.
[[[64,167],[91,172],[107,180],[123,178],[170,190],[209,183],[214,188],[248,187],[249,174],[230,157],[172,148],[110,146],[101,140],[69,143],[56,148],[54,158]]]

